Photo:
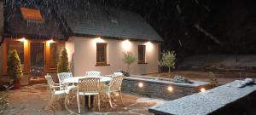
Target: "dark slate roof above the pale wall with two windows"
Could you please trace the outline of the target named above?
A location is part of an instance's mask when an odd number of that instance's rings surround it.
[[[67,21],[74,36],[95,35],[163,41],[141,15],[121,9],[101,7],[94,3],[55,0],[57,12]],[[81,5],[82,4],[82,5]]]

